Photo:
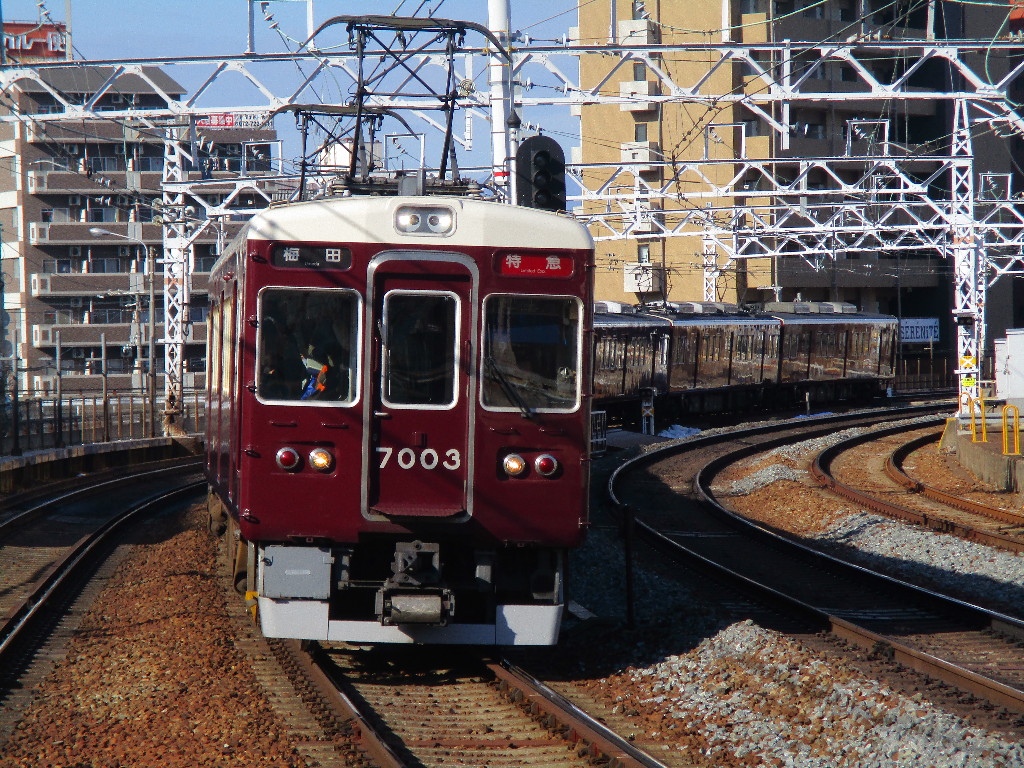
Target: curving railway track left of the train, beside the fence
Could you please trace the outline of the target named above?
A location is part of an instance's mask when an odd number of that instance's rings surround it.
[[[48,630],[81,592],[129,523],[203,486],[196,460],[65,487],[18,508],[8,500],[0,523],[0,693],[17,685]],[[145,483],[139,500],[138,483]],[[97,499],[97,494],[102,494]]]

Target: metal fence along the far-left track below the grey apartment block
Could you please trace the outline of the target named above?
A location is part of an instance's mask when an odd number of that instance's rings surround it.
[[[174,432],[202,433],[206,429],[203,393],[184,396],[174,417]],[[131,440],[164,434],[164,401],[150,402],[142,394],[112,393],[61,397],[10,396],[0,407],[0,456],[29,451]]]

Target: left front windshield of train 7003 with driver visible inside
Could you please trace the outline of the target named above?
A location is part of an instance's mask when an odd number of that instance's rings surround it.
[[[256,394],[261,400],[355,400],[358,295],[265,288],[259,298]]]

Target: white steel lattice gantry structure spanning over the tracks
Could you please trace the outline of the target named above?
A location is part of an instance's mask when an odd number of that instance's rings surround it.
[[[187,332],[184,310],[190,244],[199,229],[214,226],[218,216],[226,215],[219,203],[204,204],[201,219],[186,213],[187,201],[202,198],[201,186],[189,182],[183,171],[197,160],[196,122],[214,113],[272,114],[316,100],[400,112],[406,125],[415,122],[426,140],[443,141],[449,147],[433,166],[434,173],[443,172],[458,153],[473,157],[476,126],[482,123],[489,137],[489,157],[483,163],[463,162],[459,170],[475,174],[484,194],[501,200],[514,200],[510,165],[519,134],[539,127],[531,123],[539,120],[535,115],[638,99],[655,105],[703,106],[702,129],[709,147],[726,128],[739,137],[730,142],[726,157],[709,151],[696,160],[663,155],[642,163],[570,166],[570,205],[575,215],[591,224],[595,239],[699,239],[706,298],[714,298],[717,276],[737,260],[800,258],[824,268],[837,251],[934,250],[950,260],[955,274],[962,410],[967,408],[967,398],[977,395],[985,292],[1002,275],[1024,273],[1024,216],[1009,178],[991,175],[987,181],[995,191],[982,189],[976,195],[972,140],[978,130],[1024,135],[1024,117],[1010,95],[1024,74],[1024,46],[1010,40],[893,42],[859,36],[826,43],[742,44],[731,41],[728,30],[720,42],[712,43],[663,45],[616,39],[593,45],[566,36],[557,44],[537,44],[510,32],[508,0],[490,0],[488,12],[489,35],[466,38],[467,31],[483,30],[452,23],[461,30],[457,45],[447,28],[437,29],[435,24],[392,30],[400,40],[397,46],[368,46],[360,30],[370,24],[368,19],[380,17],[337,17],[330,30],[310,35],[293,51],[259,53],[252,50],[250,39],[250,50],[233,55],[0,67],[4,90],[34,81],[58,103],[57,110],[46,113],[14,112],[0,117],[20,123],[23,130],[74,119],[86,124],[124,121],[164,132],[169,403],[179,402],[181,394],[180,349]],[[328,39],[339,32],[344,33],[340,42]],[[425,42],[414,43],[417,35],[421,40],[426,36]],[[694,52],[707,60],[707,67],[689,81],[681,81],[679,74],[664,66],[672,56]],[[996,77],[984,66],[986,56],[993,53],[1008,62]],[[579,62],[581,57],[596,55],[610,57],[614,65],[603,80],[585,86],[580,82]],[[886,57],[898,57],[902,63],[880,77],[872,62]],[[367,88],[362,62],[383,58],[396,62],[388,79],[376,78],[374,87]],[[955,83],[954,89],[914,80],[926,65],[936,62],[948,73],[947,81]],[[85,103],[75,103],[49,88],[40,75],[47,67],[79,65],[111,68],[106,83]],[[656,85],[642,94],[608,92],[614,73],[632,65],[641,65]],[[186,97],[163,94],[165,103],[159,109],[95,109],[99,97],[116,89],[118,78],[130,74],[146,79],[144,68],[171,66],[178,72],[187,69],[193,73],[189,79],[200,83]],[[852,73],[850,89],[837,92],[823,87],[824,81],[815,74],[829,66]],[[744,86],[721,87],[716,75],[734,68],[750,73]],[[732,82],[731,77],[727,80]],[[422,95],[410,96],[410,83],[429,85],[426,90],[433,89],[441,97],[429,102]],[[157,83],[150,84],[161,93]],[[716,122],[723,106],[741,104],[769,126],[777,145],[785,150],[796,131],[791,120],[794,104],[869,100],[953,104],[956,119],[949,127],[948,152],[924,154],[900,147],[888,140],[884,121],[876,120],[869,121],[877,125],[868,126],[873,140],[863,155],[757,159],[748,157],[742,126]],[[438,110],[453,119],[439,119]],[[462,115],[459,130],[455,129],[457,114]],[[863,128],[850,126],[851,152],[857,130]],[[404,128],[399,132],[408,133]],[[362,140],[365,136],[355,136],[355,145]],[[654,174],[656,181],[651,180],[651,168],[659,171]],[[825,179],[824,183],[812,184],[812,174]],[[260,188],[254,180],[239,183]],[[937,189],[946,191],[937,194]],[[269,197],[265,189],[260,194]]]

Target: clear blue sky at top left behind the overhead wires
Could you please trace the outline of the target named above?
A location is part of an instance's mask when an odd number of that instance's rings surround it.
[[[270,0],[265,10],[261,5],[260,2],[254,3],[255,50],[268,53],[297,48],[298,41],[303,40],[307,33],[306,0]],[[511,6],[512,29],[521,30],[534,39],[558,39],[568,27],[577,24],[577,0],[511,0]],[[66,22],[70,12],[75,57],[78,59],[238,54],[246,51],[249,33],[247,0],[0,0],[0,11],[7,22],[45,20],[43,11],[46,11],[58,23]],[[484,25],[487,20],[486,0],[370,0],[369,3],[366,0],[313,0],[314,25],[337,15],[387,15],[395,11],[399,15],[421,16],[433,11],[431,15],[436,17]],[[267,15],[270,17],[265,17]],[[339,28],[332,40],[340,43],[343,35]],[[475,36],[467,38],[467,42],[481,45],[483,41]],[[169,74],[187,89],[199,87],[209,73],[210,69],[197,67],[169,68]],[[290,70],[287,75],[268,77],[297,78],[299,75]],[[217,103],[227,105],[230,101],[229,94],[217,94],[217,97],[221,99]],[[332,97],[325,93],[323,97],[334,100],[342,96],[336,93]],[[256,99],[249,101],[255,102]],[[523,117],[529,121],[529,116]],[[550,115],[536,119],[543,120],[546,125],[552,120],[560,124],[552,128],[563,134],[558,138],[566,150],[566,156],[568,146],[579,143],[578,138],[573,141],[571,137],[564,136],[578,133],[575,123],[567,115],[564,119]],[[278,118],[275,126],[285,139],[284,156],[296,157],[299,143],[293,121],[287,117]],[[421,127],[414,124],[417,130]],[[488,156],[488,147],[484,145],[485,127],[479,121],[476,121],[474,132],[473,155],[460,158],[460,163],[465,166],[485,164]]]

